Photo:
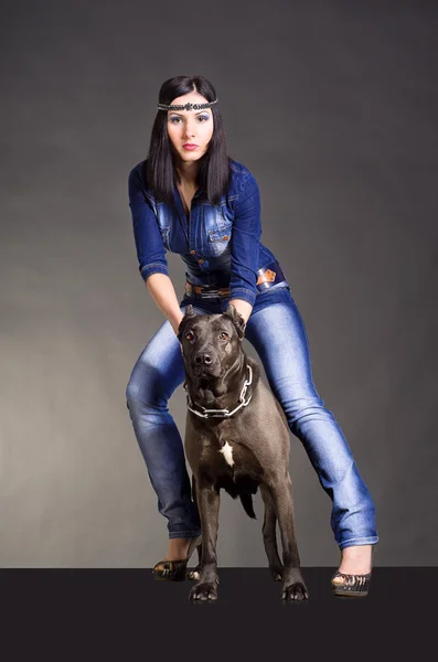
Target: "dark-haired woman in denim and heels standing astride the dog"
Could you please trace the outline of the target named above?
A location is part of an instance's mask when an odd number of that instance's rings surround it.
[[[184,381],[178,328],[189,303],[199,313],[221,313],[231,302],[245,319],[245,337],[263,362],[290,430],[332,499],[331,526],[341,549],[333,590],[366,595],[372,545],[378,540],[374,504],[313,385],[302,319],[280,265],[259,241],[257,182],[227,157],[216,94],[204,77],[177,76],[161,86],[149,158],[129,174],[129,204],[140,275],[167,318],[127,387],[133,430],[159,512],[168,520],[169,546],[154,566],[156,577],[181,578],[201,534],[181,436],[168,409]],[[165,250],[185,263],[180,302]]]

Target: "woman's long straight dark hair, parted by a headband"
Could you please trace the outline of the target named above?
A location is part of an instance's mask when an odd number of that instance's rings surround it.
[[[190,92],[199,92],[207,102],[214,102],[216,98],[213,85],[204,76],[174,76],[161,85],[158,103],[171,104],[173,99]],[[209,149],[199,161],[197,185],[205,192],[212,204],[220,204],[222,195],[228,190],[232,173],[220,105],[214,104],[211,109],[214,129]],[[179,175],[174,167],[167,125],[168,113],[158,110],[152,126],[145,174],[148,189],[153,193],[157,202],[173,204],[173,189],[179,181]]]

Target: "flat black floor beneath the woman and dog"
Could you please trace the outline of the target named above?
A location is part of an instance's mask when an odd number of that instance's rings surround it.
[[[214,602],[150,569],[3,569],[4,659],[438,659],[437,567],[376,567],[365,598],[332,596],[333,572],[302,568],[309,600],[287,604],[267,568],[220,569]]]

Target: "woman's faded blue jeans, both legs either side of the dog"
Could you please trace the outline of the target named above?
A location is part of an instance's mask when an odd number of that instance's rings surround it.
[[[184,296],[199,313],[221,313],[220,299]],[[306,329],[290,288],[265,290],[256,298],[245,338],[255,348],[289,428],[303,444],[319,481],[333,502],[331,526],[340,548],[375,544],[374,503],[359,474],[349,445],[313,385]],[[201,534],[191,500],[182,439],[168,402],[185,378],[180,342],[165,321],[138,359],[127,405],[145,458],[158,510],[168,519],[169,537]]]

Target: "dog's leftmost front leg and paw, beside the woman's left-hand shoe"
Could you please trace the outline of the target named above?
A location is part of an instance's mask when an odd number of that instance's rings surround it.
[[[221,496],[213,487],[199,487],[196,481],[196,501],[202,528],[202,562],[200,580],[190,591],[191,600],[215,600],[217,598],[217,556],[216,542]]]

